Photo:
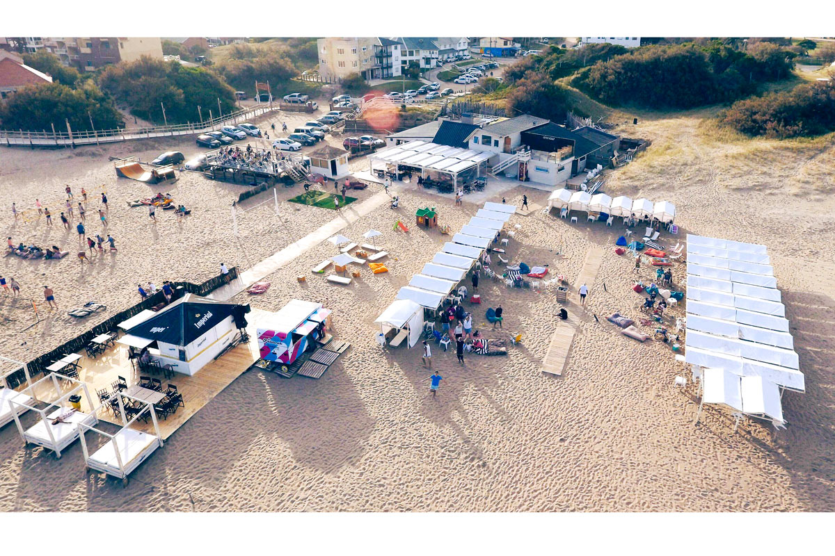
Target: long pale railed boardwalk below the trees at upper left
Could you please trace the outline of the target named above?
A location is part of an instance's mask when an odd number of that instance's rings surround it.
[[[271,110],[278,108],[253,107],[243,108],[230,114],[225,114],[211,120],[204,120],[197,123],[180,123],[170,126],[154,126],[153,128],[124,128],[106,129],[93,131],[66,132],[29,132],[29,131],[5,131],[0,130],[0,144],[7,147],[78,147],[81,145],[93,145],[100,143],[119,143],[134,139],[147,139],[157,137],[173,137],[177,135],[191,135],[194,133],[205,133],[218,128],[226,123],[243,122],[248,118],[261,116]]]

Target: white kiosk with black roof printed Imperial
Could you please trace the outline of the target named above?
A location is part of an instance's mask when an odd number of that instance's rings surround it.
[[[221,303],[186,293],[153,317],[130,328],[117,342],[132,348],[154,347],[155,363],[194,375],[235,338],[236,303]]]

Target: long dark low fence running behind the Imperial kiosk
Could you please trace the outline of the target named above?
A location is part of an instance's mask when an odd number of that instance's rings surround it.
[[[206,293],[210,293],[220,286],[225,285],[226,283],[230,282],[230,280],[234,280],[238,278],[238,268],[230,268],[229,273],[219,274],[214,278],[210,278],[206,280],[204,283],[195,284],[190,282],[175,282],[171,284],[171,287],[174,288],[175,291],[175,298],[180,298],[184,296],[186,293],[195,293],[197,295],[205,295]],[[144,298],[139,303],[135,304],[133,307],[127,308],[121,313],[114,314],[113,317],[108,318],[104,323],[100,323],[87,332],[81,334],[80,336],[76,336],[75,338],[69,340],[66,343],[58,346],[58,348],[49,351],[48,353],[43,353],[42,355],[34,358],[32,361],[27,363],[29,368],[29,374],[35,375],[39,372],[44,371],[49,365],[57,361],[58,359],[62,358],[64,355],[68,353],[75,353],[80,349],[83,349],[90,340],[98,336],[99,334],[109,333],[112,330],[116,329],[116,326],[124,320],[133,317],[136,314],[143,312],[145,309],[149,309],[154,307],[155,305],[159,305],[159,303],[164,303],[164,295],[162,290],[159,290],[157,293],[149,296],[148,298]],[[45,372],[45,371],[44,371]],[[23,373],[23,368],[21,368],[17,373],[13,373],[8,376],[7,378],[9,388],[16,388],[18,385],[26,382],[25,374]]]

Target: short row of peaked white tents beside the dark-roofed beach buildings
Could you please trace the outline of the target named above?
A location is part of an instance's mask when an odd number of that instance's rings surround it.
[[[548,198],[548,208],[566,208],[584,213],[604,213],[621,218],[650,219],[671,223],[676,218],[676,206],[669,201],[652,203],[645,198],[632,199],[621,195],[611,198],[605,193],[590,195],[585,191],[557,189]]]

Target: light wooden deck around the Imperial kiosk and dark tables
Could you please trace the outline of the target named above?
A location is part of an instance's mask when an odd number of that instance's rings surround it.
[[[258,340],[256,338],[255,321],[259,313],[261,313],[259,309],[253,308],[252,312],[247,315],[247,321],[250,323],[247,327],[247,332],[250,334],[249,343],[240,344],[230,349],[220,358],[201,368],[194,376],[175,373],[172,378],[168,379],[159,375],[151,375],[153,378],[159,378],[162,381],[163,388],[166,388],[168,384],[175,384],[185,403],[185,407],[177,409],[177,413],[169,415],[167,419],[158,416],[159,432],[162,433],[163,439],[169,438],[192,415],[200,411],[200,408],[203,408],[206,403],[209,403],[212,398],[215,398],[217,394],[229,386],[235,378],[238,378],[246,369],[250,368],[252,363],[256,362],[258,359]],[[114,348],[108,348],[97,358],[89,358],[83,351],[80,354],[81,360],[78,361],[78,364],[81,368],[78,371],[78,378],[87,383],[90,396],[97,405],[99,396],[96,394],[96,390],[107,389],[110,391],[110,385],[120,376],[127,380],[129,386],[139,382],[140,373],[134,372],[130,364],[128,348],[119,343]],[[50,396],[50,398],[53,398],[53,396]],[[92,409],[89,408],[86,399],[82,399],[81,409],[84,412],[89,412]],[[99,419],[107,423],[122,424],[119,417],[106,408],[99,410]],[[134,428],[148,433],[153,432],[153,424],[150,419],[147,424],[137,421]]]

